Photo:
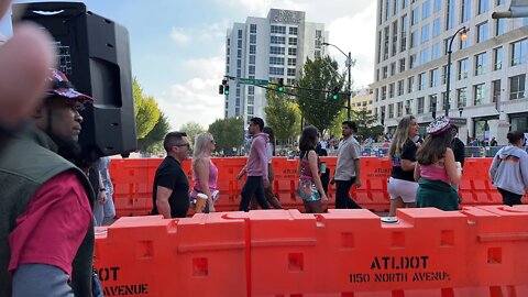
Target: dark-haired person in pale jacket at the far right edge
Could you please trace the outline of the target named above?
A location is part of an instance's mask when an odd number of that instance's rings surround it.
[[[528,190],[528,154],[522,150],[525,135],[509,132],[509,144],[498,150],[490,167],[490,178],[503,195],[507,206],[521,205],[520,198]]]

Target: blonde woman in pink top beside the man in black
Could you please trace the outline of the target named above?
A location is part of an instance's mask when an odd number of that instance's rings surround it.
[[[218,168],[211,161],[215,151],[215,139],[210,133],[201,133],[196,136],[195,152],[193,154],[193,179],[195,185],[190,197],[196,199],[199,193],[207,196],[205,209],[196,209],[196,212],[215,211],[215,202],[218,199]]]

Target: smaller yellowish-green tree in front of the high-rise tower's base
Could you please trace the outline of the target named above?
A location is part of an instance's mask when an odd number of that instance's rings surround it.
[[[274,88],[270,86],[270,88]],[[276,141],[286,143],[299,131],[300,112],[297,106],[289,101],[289,96],[275,90],[266,91],[267,106],[266,124],[273,128]]]

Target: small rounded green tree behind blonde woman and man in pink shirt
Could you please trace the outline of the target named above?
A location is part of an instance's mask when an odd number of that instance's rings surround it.
[[[244,122],[242,118],[218,119],[209,125],[209,133],[217,142],[217,152],[233,155],[233,147],[239,148],[244,140]]]

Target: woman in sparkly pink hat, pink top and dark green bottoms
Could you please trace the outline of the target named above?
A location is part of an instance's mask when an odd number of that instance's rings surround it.
[[[458,210],[459,195],[451,185],[460,183],[462,167],[451,150],[453,133],[449,118],[439,117],[426,129],[428,136],[416,152],[417,207]]]

